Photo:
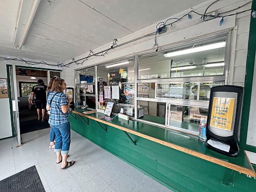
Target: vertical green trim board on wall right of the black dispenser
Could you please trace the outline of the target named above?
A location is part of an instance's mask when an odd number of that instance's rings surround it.
[[[252,1],[251,9],[252,9],[252,12],[256,10],[255,0]],[[254,71],[254,63],[255,63],[255,51],[256,51],[255,31],[256,31],[256,18],[253,18],[250,15],[250,30],[249,30],[248,50],[247,50],[247,60],[246,60],[244,102],[243,102],[243,110],[242,110],[241,136],[240,136],[240,145],[243,150],[246,148],[250,104],[251,104],[251,92],[252,92],[253,71]]]

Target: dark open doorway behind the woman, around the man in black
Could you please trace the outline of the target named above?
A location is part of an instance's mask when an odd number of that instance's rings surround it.
[[[44,84],[47,86],[51,77],[54,75],[60,76],[60,72],[22,67],[16,67],[15,71],[20,134],[50,127],[48,123],[49,116],[46,113],[44,120],[42,120],[42,110],[40,110],[38,120],[35,104],[36,96],[34,97],[35,99],[32,100],[31,92],[33,86],[39,84],[39,79],[44,81]]]

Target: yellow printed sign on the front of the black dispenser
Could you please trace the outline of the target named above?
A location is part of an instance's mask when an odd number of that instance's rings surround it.
[[[231,131],[234,111],[234,98],[214,97],[210,126]]]

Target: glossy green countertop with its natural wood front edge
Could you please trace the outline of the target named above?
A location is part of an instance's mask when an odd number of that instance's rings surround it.
[[[187,153],[192,156],[216,163],[227,168],[237,170],[240,173],[256,177],[256,174],[249,162],[244,151],[240,151],[238,157],[227,157],[217,152],[211,151],[205,146],[205,142],[198,140],[198,137],[191,136],[188,134],[180,133],[173,130],[163,129],[158,126],[146,124],[139,121],[129,120],[125,121],[115,117],[111,121],[105,121],[101,119],[104,116],[102,113],[83,114],[84,110],[76,109],[75,114],[101,123],[110,125],[122,131],[132,133],[136,136],[146,138],[148,140],[160,143],[170,148],[174,148],[183,153]],[[113,116],[114,117],[114,116]],[[91,126],[91,124],[90,124]]]

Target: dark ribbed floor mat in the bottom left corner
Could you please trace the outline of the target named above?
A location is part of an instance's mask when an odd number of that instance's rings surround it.
[[[0,181],[0,191],[45,192],[35,165]]]

